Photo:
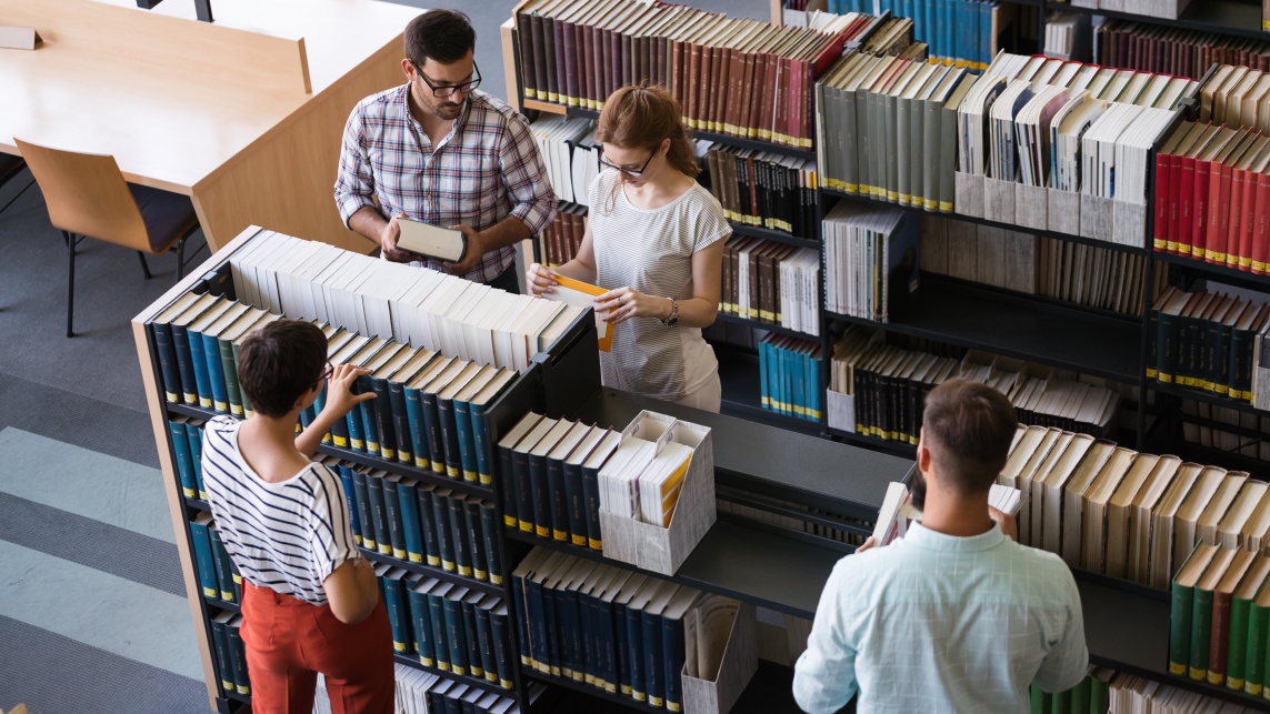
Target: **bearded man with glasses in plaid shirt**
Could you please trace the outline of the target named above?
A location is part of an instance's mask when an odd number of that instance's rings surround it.
[[[367,96],[348,118],[335,204],[395,263],[419,257],[396,249],[398,217],[456,227],[467,236],[462,261],[415,264],[517,292],[513,246],[547,227],[556,198],[528,122],[476,91],[475,46],[456,10],[410,20],[406,84]]]

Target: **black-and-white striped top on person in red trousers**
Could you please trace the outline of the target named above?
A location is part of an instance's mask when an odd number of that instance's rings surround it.
[[[203,483],[225,549],[251,585],[325,605],[326,576],[357,558],[339,477],[310,464],[265,482],[239,451],[241,424],[218,416],[203,429]]]

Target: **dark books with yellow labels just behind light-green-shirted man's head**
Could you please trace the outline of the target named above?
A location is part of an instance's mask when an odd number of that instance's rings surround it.
[[[1100,438],[1115,427],[1119,393],[1114,389],[975,350],[959,359],[888,345],[879,332],[859,325],[848,327],[833,346],[831,393],[852,399],[842,412],[831,408],[829,426],[917,445],[926,394],[952,377],[996,388],[1027,424]]]

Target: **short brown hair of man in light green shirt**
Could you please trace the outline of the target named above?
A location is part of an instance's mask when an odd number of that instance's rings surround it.
[[[926,396],[922,441],[940,476],[963,495],[992,487],[1017,427],[1010,399],[987,384],[949,379]]]

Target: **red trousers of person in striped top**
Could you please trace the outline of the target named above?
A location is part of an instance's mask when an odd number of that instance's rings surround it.
[[[335,714],[392,714],[392,630],[384,601],[348,625],[290,595],[243,581],[243,643],[251,710],[311,714],[318,672]]]

